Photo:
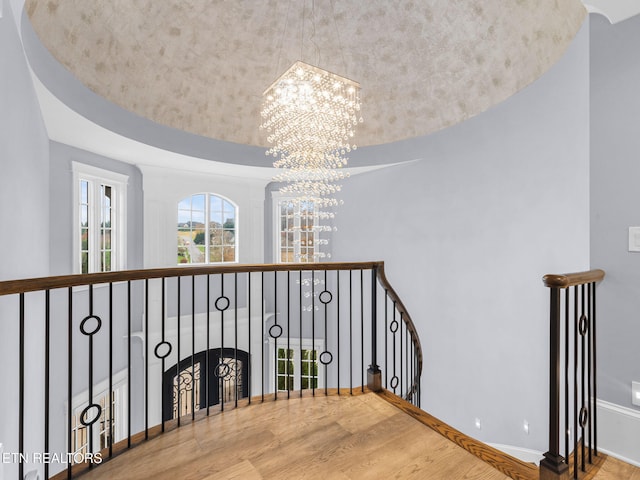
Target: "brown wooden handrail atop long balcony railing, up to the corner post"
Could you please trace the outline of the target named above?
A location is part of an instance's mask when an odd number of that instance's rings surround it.
[[[0,282],[0,296],[17,293],[69,288],[101,283],[117,283],[166,277],[213,275],[220,273],[291,272],[311,270],[368,270],[382,268],[384,262],[329,262],[329,263],[278,263],[232,264],[216,266],[188,266],[150,268],[145,270],[121,270],[116,272],[60,275],[56,277],[26,278]]]

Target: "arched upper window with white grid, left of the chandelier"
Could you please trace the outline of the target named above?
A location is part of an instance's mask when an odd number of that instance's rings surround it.
[[[238,260],[238,207],[213,193],[178,202],[178,264]]]

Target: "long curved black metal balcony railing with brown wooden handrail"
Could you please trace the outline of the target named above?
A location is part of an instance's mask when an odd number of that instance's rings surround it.
[[[14,432],[4,452],[17,460],[5,478],[73,478],[168,429],[265,399],[368,386],[420,404],[420,342],[382,262],[0,282],[0,322],[18,370],[2,380],[18,392],[2,412]]]

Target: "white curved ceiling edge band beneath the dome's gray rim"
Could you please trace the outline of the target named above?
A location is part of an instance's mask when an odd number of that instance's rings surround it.
[[[278,169],[272,166],[254,167],[216,162],[170,152],[124,137],[92,122],[69,108],[44,86],[33,70],[31,70],[31,77],[47,134],[49,139],[55,142],[141,167],[209,173],[262,180],[264,182],[271,181],[279,173]],[[265,159],[265,165],[268,164],[267,162],[270,162],[270,160]],[[349,175],[358,175],[400,163],[405,162],[345,168],[344,170]]]

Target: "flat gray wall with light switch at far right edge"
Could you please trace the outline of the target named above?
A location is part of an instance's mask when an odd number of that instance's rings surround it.
[[[631,405],[640,381],[640,16],[591,16],[591,264],[607,276],[598,297],[599,397]]]

